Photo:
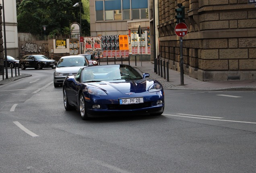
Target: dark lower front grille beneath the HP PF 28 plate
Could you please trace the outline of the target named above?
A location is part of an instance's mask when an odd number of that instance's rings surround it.
[[[151,107],[151,102],[130,104],[130,105],[111,104],[111,105],[107,105],[107,107],[109,110],[133,110],[133,109],[141,109],[141,108]]]

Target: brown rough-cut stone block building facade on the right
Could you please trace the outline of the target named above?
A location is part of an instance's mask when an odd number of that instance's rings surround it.
[[[158,0],[159,52],[180,71],[175,8],[185,6],[184,74],[202,81],[256,79],[256,6],[248,0]],[[156,17],[156,18],[157,18]]]

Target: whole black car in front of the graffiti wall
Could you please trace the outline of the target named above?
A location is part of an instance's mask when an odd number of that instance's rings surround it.
[[[25,55],[19,61],[21,70],[26,68],[55,68],[56,64],[55,60],[48,59],[44,55]]]

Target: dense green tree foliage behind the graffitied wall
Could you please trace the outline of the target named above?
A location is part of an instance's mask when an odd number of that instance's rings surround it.
[[[46,25],[45,34],[49,36],[70,35],[70,25],[80,23],[80,8],[73,7],[79,0],[17,0],[18,32],[29,32],[43,36],[43,27]],[[82,36],[90,35],[88,14],[89,0],[82,0]]]

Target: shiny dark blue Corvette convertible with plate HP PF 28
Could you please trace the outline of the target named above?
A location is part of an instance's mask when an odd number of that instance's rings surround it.
[[[88,66],[63,82],[64,107],[83,120],[110,115],[161,115],[164,92],[149,74],[125,64]]]

